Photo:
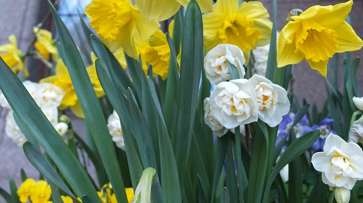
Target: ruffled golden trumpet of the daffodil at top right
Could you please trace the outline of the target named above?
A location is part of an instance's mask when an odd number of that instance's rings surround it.
[[[309,28],[296,37],[295,52],[301,51],[307,60],[313,62],[327,61],[338,47],[335,31],[324,27]]]

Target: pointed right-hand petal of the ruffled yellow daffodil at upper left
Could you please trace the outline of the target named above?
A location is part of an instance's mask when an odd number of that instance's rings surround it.
[[[164,7],[165,7],[165,5],[164,5]],[[136,29],[140,33],[141,39],[149,38],[160,27],[160,24],[158,23],[158,21],[148,20],[137,9],[132,9],[132,20],[135,23]]]

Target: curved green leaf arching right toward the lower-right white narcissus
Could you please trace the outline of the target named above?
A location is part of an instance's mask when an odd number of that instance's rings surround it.
[[[320,130],[313,130],[307,134],[304,134],[289,145],[289,147],[282,154],[281,158],[272,170],[269,181],[267,182],[267,185],[265,187],[263,203],[267,202],[270,187],[272,186],[273,180],[275,179],[276,175],[281,171],[281,169],[286,164],[290,163],[292,160],[304,153],[305,150],[309,149],[309,147],[319,138],[319,136]]]

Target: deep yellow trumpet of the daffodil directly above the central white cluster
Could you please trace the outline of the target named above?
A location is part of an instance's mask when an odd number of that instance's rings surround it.
[[[223,27],[219,29],[222,43],[240,47],[242,51],[255,49],[255,42],[262,37],[261,31],[254,28],[254,20],[235,14],[224,19]]]

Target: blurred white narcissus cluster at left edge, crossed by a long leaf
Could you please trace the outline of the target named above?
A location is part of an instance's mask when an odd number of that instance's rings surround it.
[[[67,133],[68,125],[58,122],[58,107],[65,95],[63,90],[50,83],[36,83],[29,80],[24,81],[23,85],[58,133],[61,136]],[[3,94],[0,95],[0,106],[11,109]],[[26,141],[24,134],[15,122],[13,110],[9,110],[6,116],[5,132],[18,146]]]

